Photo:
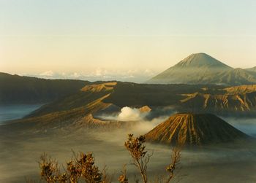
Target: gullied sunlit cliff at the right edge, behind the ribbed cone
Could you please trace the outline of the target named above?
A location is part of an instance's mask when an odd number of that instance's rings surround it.
[[[225,87],[215,92],[199,91],[183,94],[180,109],[217,114],[256,112],[256,85]]]

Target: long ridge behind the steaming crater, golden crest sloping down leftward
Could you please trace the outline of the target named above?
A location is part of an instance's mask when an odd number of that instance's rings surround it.
[[[50,104],[46,104],[32,112],[22,120],[14,123],[36,125],[37,127],[56,127],[77,124],[88,116],[101,112],[120,112],[123,106],[143,107],[169,106],[176,104],[183,96],[176,95],[181,91],[195,92],[200,86],[187,85],[140,85],[130,82],[99,82],[86,85],[77,93]],[[176,97],[173,97],[176,96]],[[83,124],[86,124],[83,122]],[[88,125],[92,125],[91,123]]]

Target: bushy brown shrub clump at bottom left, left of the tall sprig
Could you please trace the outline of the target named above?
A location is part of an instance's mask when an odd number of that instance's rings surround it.
[[[75,155],[75,153],[74,153]],[[75,155],[72,160],[67,163],[67,168],[61,173],[56,160],[52,160],[47,155],[41,156],[39,162],[41,169],[41,177],[46,182],[70,182],[77,183],[79,181],[86,183],[105,183],[107,182],[107,174],[105,168],[99,171],[94,165],[94,157],[92,153]]]

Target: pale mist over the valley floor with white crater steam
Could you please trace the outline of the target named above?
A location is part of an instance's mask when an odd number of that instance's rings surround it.
[[[117,114],[105,116],[105,119],[127,120],[135,122],[130,128],[110,130],[83,128],[78,131],[56,128],[53,131],[33,134],[1,133],[0,138],[0,182],[25,182],[26,177],[39,180],[39,156],[47,153],[60,164],[64,164],[75,152],[93,152],[99,168],[108,166],[108,174],[113,182],[124,164],[130,182],[140,177],[131,165],[131,158],[124,147],[127,134],[143,135],[169,117],[158,115],[152,119],[151,112],[140,112],[135,108],[124,107]],[[241,131],[253,133],[256,119],[224,119]],[[251,128],[245,128],[246,125]],[[154,179],[166,175],[165,167],[170,163],[171,147],[162,144],[147,144],[148,153],[153,153],[148,164],[148,176]],[[206,147],[184,148],[181,151],[181,169],[176,181],[181,182],[255,182],[256,141],[236,144],[214,144]],[[242,168],[241,168],[242,167]],[[236,176],[234,176],[236,175]]]

